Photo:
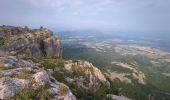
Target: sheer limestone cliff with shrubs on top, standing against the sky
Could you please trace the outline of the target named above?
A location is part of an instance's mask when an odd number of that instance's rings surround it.
[[[8,55],[61,56],[60,39],[46,29],[0,26],[0,51]]]

